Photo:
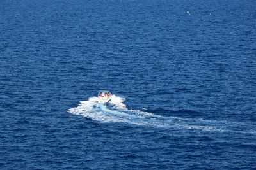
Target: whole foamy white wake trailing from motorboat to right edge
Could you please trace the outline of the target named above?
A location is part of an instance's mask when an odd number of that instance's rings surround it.
[[[251,126],[239,130],[239,126],[232,122],[217,120],[204,120],[202,118],[164,117],[141,110],[128,109],[124,104],[125,99],[112,96],[108,104],[98,103],[97,97],[91,97],[88,101],[81,101],[79,106],[70,108],[69,113],[91,118],[99,122],[123,122],[134,125],[145,125],[159,128],[173,129],[200,129],[206,132],[243,132],[255,134]]]

